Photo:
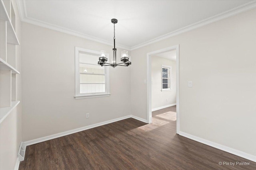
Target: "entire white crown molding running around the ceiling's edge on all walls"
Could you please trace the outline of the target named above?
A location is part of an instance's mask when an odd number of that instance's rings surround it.
[[[54,24],[51,24],[51,23],[47,23],[47,22],[44,22],[44,21],[40,21],[40,20],[36,20],[34,18],[30,18],[28,17],[27,15],[27,10],[26,10],[26,1],[25,0],[17,0],[16,1],[17,4],[18,4],[18,10],[19,10],[19,13],[20,13],[20,20],[23,21],[23,22],[26,22],[26,23],[31,23],[31,24],[34,24],[34,25],[38,25],[38,26],[41,26],[41,27],[45,27],[45,28],[48,28],[48,29],[53,29],[55,31],[60,31],[62,33],[67,33],[67,34],[70,34],[70,35],[75,35],[77,37],[81,37],[81,38],[84,38],[84,39],[88,39],[88,40],[91,40],[91,41],[96,41],[98,43],[103,43],[103,44],[106,44],[106,45],[113,45],[112,42],[110,41],[106,41],[104,39],[100,39],[100,38],[97,38],[97,37],[93,37],[93,36],[90,36],[90,35],[86,35],[84,33],[80,33],[78,31],[74,31],[72,29],[68,29],[68,28],[64,28],[64,27],[60,27],[58,25],[54,25]],[[186,27],[182,27],[180,29],[177,29],[175,31],[172,31],[170,33],[167,33],[165,35],[162,35],[160,37],[156,37],[154,39],[151,39],[149,41],[146,41],[144,43],[141,43],[141,44],[138,44],[138,45],[135,45],[133,47],[127,47],[125,45],[120,45],[120,44],[117,44],[116,46],[118,48],[122,48],[122,49],[126,49],[128,51],[132,51],[132,50],[135,50],[135,49],[139,49],[141,47],[144,47],[146,45],[150,45],[152,43],[156,43],[158,41],[161,41],[161,40],[164,40],[164,39],[167,39],[167,38],[170,38],[170,37],[173,37],[173,36],[176,36],[176,35],[179,35],[181,33],[185,33],[185,32],[188,32],[188,31],[191,31],[193,29],[196,29],[196,28],[199,28],[199,27],[202,27],[204,25],[208,25],[210,23],[214,23],[216,21],[220,21],[220,20],[223,20],[225,18],[228,18],[228,17],[231,17],[231,16],[234,16],[236,14],[240,14],[242,12],[246,12],[248,10],[251,10],[253,8],[256,8],[256,0],[253,0],[251,2],[248,2],[246,4],[243,4],[241,6],[238,6],[236,8],[232,8],[228,11],[225,11],[225,12],[222,12],[220,14],[217,14],[215,16],[212,16],[210,18],[206,18],[205,20],[201,20],[201,21],[198,21],[196,23],[193,23],[191,25],[188,25]]]

